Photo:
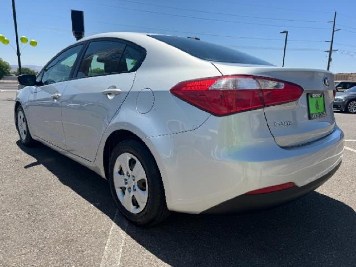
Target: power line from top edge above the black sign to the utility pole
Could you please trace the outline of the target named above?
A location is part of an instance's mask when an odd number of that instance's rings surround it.
[[[158,11],[134,9],[134,8],[129,8],[129,7],[113,6],[113,5],[107,5],[107,4],[98,4],[98,3],[82,1],[82,0],[71,0],[71,1],[81,2],[81,3],[86,3],[86,4],[92,4],[92,5],[98,5],[98,6],[114,7],[114,8],[117,8],[117,9],[134,10],[134,11],[147,12],[147,13],[152,13],[152,14],[176,16],[176,17],[186,17],[186,18],[190,18],[190,19],[199,19],[199,20],[207,20],[207,21],[229,22],[229,23],[236,23],[236,24],[256,25],[256,26],[266,26],[266,27],[278,27],[278,28],[289,27],[289,28],[302,28],[302,29],[314,29],[314,30],[325,30],[325,29],[328,30],[328,28],[322,28],[322,27],[274,25],[274,24],[263,24],[263,23],[253,23],[253,22],[238,22],[238,21],[232,21],[232,20],[208,19],[208,18],[203,18],[203,17],[195,17],[195,16],[188,16],[188,15],[177,15],[177,14],[171,14],[171,13],[158,12]]]

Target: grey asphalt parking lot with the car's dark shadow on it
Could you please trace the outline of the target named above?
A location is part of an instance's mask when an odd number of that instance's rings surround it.
[[[356,115],[335,112],[350,141],[316,192],[257,213],[173,214],[140,229],[97,174],[21,145],[14,96],[0,92],[0,266],[356,266]]]

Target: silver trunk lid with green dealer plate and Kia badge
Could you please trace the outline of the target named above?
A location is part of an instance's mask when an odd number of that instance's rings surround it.
[[[299,100],[264,108],[269,129],[279,146],[290,147],[311,142],[328,135],[334,129],[332,73],[312,69],[214,64],[224,75],[251,74],[270,77],[303,88],[304,92]]]

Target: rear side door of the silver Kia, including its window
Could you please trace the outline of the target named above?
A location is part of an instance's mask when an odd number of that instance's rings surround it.
[[[95,160],[101,137],[129,93],[145,50],[119,39],[88,43],[62,97],[67,150]]]

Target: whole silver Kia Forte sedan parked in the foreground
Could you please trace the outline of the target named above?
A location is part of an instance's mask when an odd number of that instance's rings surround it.
[[[334,77],[198,38],[103,33],[22,75],[15,125],[109,180],[136,225],[266,208],[341,164]],[[64,166],[65,168],[65,166]]]

